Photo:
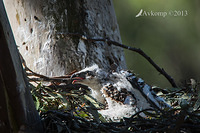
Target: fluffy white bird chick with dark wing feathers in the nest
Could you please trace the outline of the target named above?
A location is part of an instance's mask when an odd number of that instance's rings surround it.
[[[99,112],[114,121],[130,117],[143,109],[167,106],[149,85],[128,71],[109,72],[95,64],[73,74],[71,78],[75,84],[88,86],[91,96],[98,102],[106,103],[107,108]]]

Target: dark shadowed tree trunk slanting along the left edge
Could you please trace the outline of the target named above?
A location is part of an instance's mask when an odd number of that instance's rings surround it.
[[[42,132],[2,1],[0,42],[0,132]]]

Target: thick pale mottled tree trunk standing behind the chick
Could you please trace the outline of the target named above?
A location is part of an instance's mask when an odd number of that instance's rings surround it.
[[[126,68],[123,50],[65,33],[121,42],[111,0],[4,0],[14,36],[27,66],[60,76],[94,63]]]

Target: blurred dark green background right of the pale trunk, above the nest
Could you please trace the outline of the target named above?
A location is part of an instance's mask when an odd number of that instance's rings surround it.
[[[123,44],[141,48],[178,85],[200,77],[200,1],[199,0],[113,0]],[[139,11],[187,12],[187,16],[140,16]],[[175,14],[174,14],[175,15]],[[184,14],[185,15],[185,14]],[[147,83],[170,88],[142,56],[125,50],[128,69]]]

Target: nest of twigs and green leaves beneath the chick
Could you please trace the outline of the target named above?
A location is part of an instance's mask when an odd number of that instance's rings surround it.
[[[46,132],[198,132],[200,89],[195,83],[182,88],[153,87],[171,108],[142,110],[121,122],[104,119],[97,112],[103,106],[88,95],[85,87],[39,83],[32,86],[31,93]]]

